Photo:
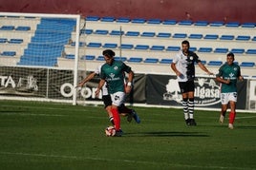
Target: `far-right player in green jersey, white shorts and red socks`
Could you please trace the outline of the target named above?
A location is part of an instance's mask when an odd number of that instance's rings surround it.
[[[236,117],[237,80],[243,81],[240,66],[234,64],[235,56],[232,52],[226,55],[226,63],[220,67],[216,80],[221,83],[222,111],[220,123],[224,123],[224,117],[228,103],[230,105],[228,128],[233,129]]]

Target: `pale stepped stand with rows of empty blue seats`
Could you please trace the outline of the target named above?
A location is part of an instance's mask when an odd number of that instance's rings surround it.
[[[22,66],[74,66],[74,21],[9,17],[0,20],[0,60],[16,59],[16,65]],[[188,40],[190,49],[214,72],[224,64],[226,53],[233,52],[243,74],[256,75],[255,23],[97,16],[88,16],[81,22],[82,26],[86,22],[86,28],[80,31],[79,59],[89,70],[104,61],[102,50],[111,48],[117,60],[127,62],[136,72],[169,74],[170,63],[181,50],[181,41]],[[61,33],[51,32],[52,28]],[[49,57],[50,62],[45,63],[44,57]],[[199,70],[198,74],[203,72]]]

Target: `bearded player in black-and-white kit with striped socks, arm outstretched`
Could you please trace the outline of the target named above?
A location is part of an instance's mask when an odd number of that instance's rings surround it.
[[[212,74],[203,64],[199,56],[193,51],[189,50],[189,42],[182,41],[181,51],[173,59],[171,68],[177,75],[179,86],[181,88],[182,106],[185,123],[187,125],[197,125],[194,119],[194,91],[195,91],[195,66],[203,69],[207,74]]]

